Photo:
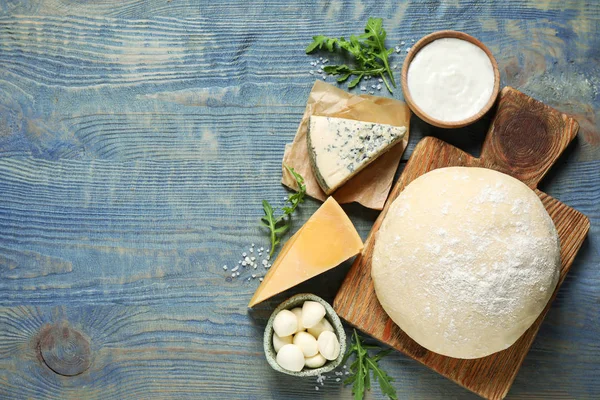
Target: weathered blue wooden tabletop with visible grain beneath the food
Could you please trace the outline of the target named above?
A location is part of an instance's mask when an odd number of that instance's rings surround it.
[[[370,16],[402,49],[397,77],[414,40],[461,30],[494,52],[504,85],[579,121],[540,189],[591,231],[509,397],[600,398],[592,0],[1,1],[0,398],[351,396],[335,375],[317,392],[272,371],[262,351],[273,307],[304,290],[331,300],[348,263],[250,312],[258,278],[223,265],[267,247],[261,200],[287,194],[281,157],[315,79],[305,46]],[[425,135],[477,154],[485,124],[442,131],[413,117],[404,160]],[[293,230],[318,205],[303,204]],[[377,212],[345,209],[366,237]],[[382,365],[402,399],[475,397],[399,353]]]

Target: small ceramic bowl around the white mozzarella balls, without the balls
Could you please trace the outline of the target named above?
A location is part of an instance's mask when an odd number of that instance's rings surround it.
[[[323,307],[325,307],[325,318],[331,323],[335,334],[340,341],[340,355],[335,360],[327,361],[325,365],[320,368],[307,368],[304,367],[302,371],[294,372],[288,371],[287,369],[283,369],[277,364],[277,353],[273,348],[273,320],[279,311],[281,310],[291,310],[292,308],[298,307],[302,305],[305,301],[316,301],[321,303]],[[265,349],[265,356],[267,357],[267,361],[269,365],[275,370],[284,374],[292,375],[292,376],[317,376],[319,374],[324,374],[326,372],[333,371],[336,367],[338,367],[342,363],[342,359],[344,358],[344,354],[346,354],[346,332],[344,332],[344,327],[342,326],[342,321],[340,321],[340,317],[333,311],[333,308],[327,303],[325,300],[320,298],[319,296],[315,296],[310,293],[300,293],[293,297],[290,297],[283,303],[281,303],[273,314],[271,314],[271,318],[267,322],[267,327],[265,328],[265,336],[263,340],[263,347]]]

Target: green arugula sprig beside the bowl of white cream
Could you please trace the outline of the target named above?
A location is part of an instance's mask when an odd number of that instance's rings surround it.
[[[327,65],[323,67],[323,71],[331,75],[339,75],[338,82],[344,82],[351,76],[356,76],[348,84],[351,89],[358,85],[366,76],[379,76],[387,89],[392,93],[392,88],[385,77],[389,76],[392,85],[396,87],[394,74],[390,69],[388,57],[394,49],[386,49],[385,38],[387,33],[383,29],[383,20],[381,18],[369,18],[365,26],[365,33],[359,36],[350,36],[350,40],[343,37],[336,39],[323,35],[313,36],[313,41],[306,48],[306,54],[310,54],[318,50],[327,50],[335,52],[336,46],[350,53],[354,59],[356,66],[349,67],[346,64],[342,65]]]

